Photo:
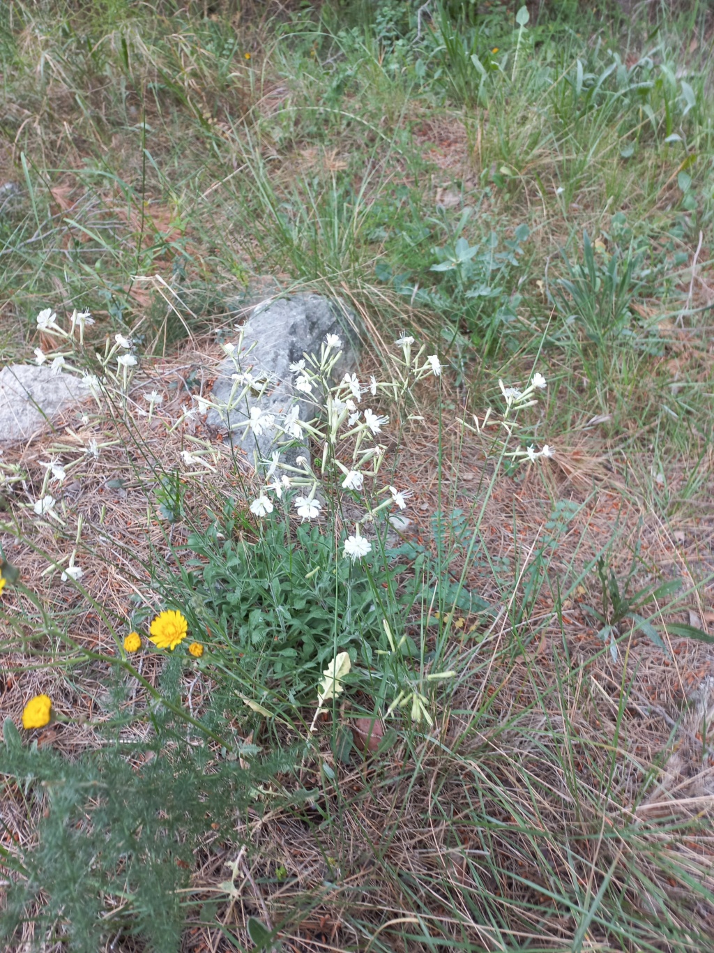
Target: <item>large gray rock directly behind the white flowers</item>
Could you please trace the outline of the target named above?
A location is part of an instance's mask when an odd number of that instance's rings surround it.
[[[315,416],[315,406],[309,397],[300,395],[293,387],[295,375],[290,364],[303,355],[319,355],[326,335],[339,335],[343,341],[342,357],[335,367],[335,378],[355,370],[357,365],[359,337],[354,312],[341,300],[329,300],[319,294],[292,294],[289,297],[270,299],[256,305],[248,317],[243,331],[243,347],[236,353],[240,369],[254,378],[268,381],[262,395],[244,397],[240,406],[225,411],[208,411],[208,426],[228,430],[236,449],[242,450],[257,468],[260,458],[269,458],[278,444],[277,434],[268,431],[260,436],[246,424],[251,407],[260,407],[264,414],[280,417],[287,414],[297,401],[300,419]],[[221,364],[219,376],[213,385],[211,400],[227,404],[236,374],[234,361],[227,357]],[[279,443],[284,443],[283,436]],[[294,462],[300,448],[294,446],[283,453],[281,459]]]

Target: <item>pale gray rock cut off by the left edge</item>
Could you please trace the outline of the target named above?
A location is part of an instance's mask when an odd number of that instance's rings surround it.
[[[49,367],[8,364],[0,371],[0,446],[29,440],[87,391],[80,379]]]

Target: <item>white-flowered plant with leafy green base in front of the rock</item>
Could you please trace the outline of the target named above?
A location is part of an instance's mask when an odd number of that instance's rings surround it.
[[[488,609],[462,592],[463,580],[442,578],[426,551],[415,573],[416,563],[400,561],[389,538],[412,493],[387,463],[387,433],[407,418],[421,419],[412,413],[413,388],[427,377],[440,381],[442,361],[405,333],[395,342],[387,379],[361,380],[336,374],[342,342],[327,335],[319,355],[291,365],[296,397],[277,414],[262,406],[270,381],[245,370],[242,341],[225,350],[235,364],[233,387],[226,403],[211,406],[231,420],[240,412],[243,436],[269,436],[274,449],[258,460],[260,484],[247,501],[257,541],[233,541],[237,503],[228,521],[189,537],[190,548],[206,560],[201,582],[193,583],[201,612],[238,657],[254,657],[261,704],[265,686],[286,678],[296,700],[314,695],[325,664],[349,659],[347,683],[367,683],[390,716],[407,710],[412,720],[431,724],[433,683],[453,673],[432,672],[417,660],[424,658],[424,646],[410,634],[409,618],[414,611],[427,616],[434,600],[461,605],[465,596],[474,611]],[[518,413],[545,386],[537,373],[523,390],[502,384],[506,412],[466,426],[482,431],[496,425],[502,453],[515,459],[551,456],[547,446],[506,449]],[[232,667],[227,664],[227,671]]]

